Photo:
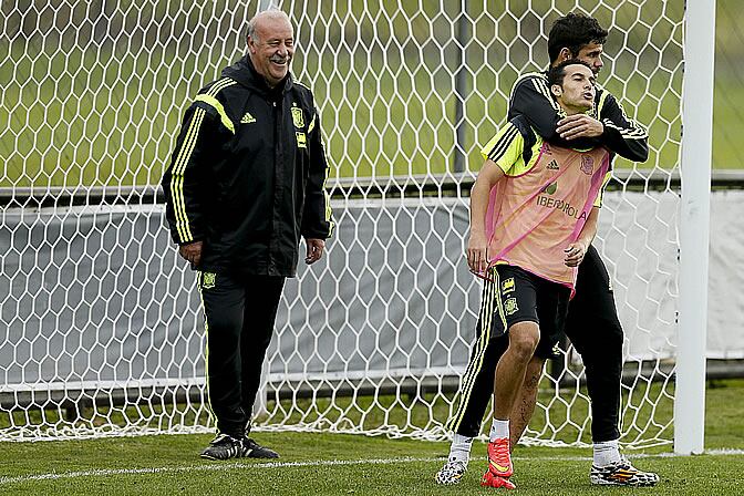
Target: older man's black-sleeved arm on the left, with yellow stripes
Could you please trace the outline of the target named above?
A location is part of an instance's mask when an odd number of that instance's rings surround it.
[[[205,237],[204,177],[207,164],[215,161],[225,127],[217,111],[202,102],[188,107],[170,164],[163,174],[161,186],[165,194],[165,217],[170,237],[179,252],[198,266]],[[216,145],[217,144],[217,145]]]

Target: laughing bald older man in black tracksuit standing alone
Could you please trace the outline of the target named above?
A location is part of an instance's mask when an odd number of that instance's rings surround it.
[[[278,10],[248,23],[248,53],[186,110],[163,176],[178,252],[197,272],[217,436],[202,457],[275,458],[248,437],[285,278],[323,255],[333,220],[312,92],[292,80],[294,33]]]

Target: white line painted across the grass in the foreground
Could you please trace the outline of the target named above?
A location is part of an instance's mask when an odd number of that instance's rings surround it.
[[[724,456],[724,455],[744,455],[744,450],[709,450],[706,455]],[[665,458],[675,457],[674,453],[660,454],[634,454],[629,455],[629,458]],[[227,462],[205,465],[189,465],[185,467],[149,467],[149,468],[117,468],[117,469],[99,469],[99,471],[79,471],[79,472],[51,472],[48,474],[35,475],[19,475],[16,477],[0,477],[0,486],[7,484],[20,484],[34,480],[58,480],[65,478],[78,477],[101,477],[110,475],[140,475],[140,474],[174,474],[180,472],[225,472],[235,468],[283,468],[283,467],[321,467],[321,466],[340,466],[340,465],[392,465],[399,463],[430,463],[442,462],[445,457],[427,457],[427,458],[371,458],[371,459],[319,459],[312,462],[265,462],[265,463],[242,463],[242,462]],[[591,456],[515,456],[514,459],[524,461],[546,461],[546,462],[588,462]]]

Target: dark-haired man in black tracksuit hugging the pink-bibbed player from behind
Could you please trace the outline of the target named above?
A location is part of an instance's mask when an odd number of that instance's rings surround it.
[[[603,65],[601,56],[607,37],[608,32],[593,18],[570,12],[557,19],[548,34],[550,65],[578,59],[588,63],[598,75]],[[518,116],[521,118],[516,118]],[[513,175],[534,165],[534,157],[542,146],[536,142],[535,135],[541,136],[551,146],[575,149],[603,146],[632,162],[648,159],[648,132],[626,115],[611,93],[597,86],[591,111],[567,116],[550,94],[548,71],[524,74],[517,80],[509,97],[507,120],[507,125],[488,144],[484,154],[499,165],[514,163],[516,170]],[[555,188],[559,190],[562,186],[555,185]],[[548,189],[546,193],[551,192]],[[546,197],[544,202],[548,207],[569,210],[571,207],[555,198]],[[597,204],[599,206],[599,202]],[[488,400],[493,396],[494,370],[509,345],[509,335],[499,335],[498,324],[492,326],[499,320],[494,318],[494,292],[497,288],[486,283],[483,289],[484,304],[476,324],[476,340],[457,394],[457,406],[446,425],[453,432],[450,455],[436,474],[437,484],[458,484],[465,475],[473,440],[480,432]],[[592,245],[579,260],[575,291],[576,298],[568,307],[565,334],[550,334],[545,326],[540,328],[540,341],[527,365],[521,391],[512,411],[510,448],[514,450],[533,416],[546,361],[558,356],[560,342],[568,338],[586,368],[592,415],[591,484],[653,486],[659,482],[659,475],[639,471],[619,451],[623,331],[610,276]]]

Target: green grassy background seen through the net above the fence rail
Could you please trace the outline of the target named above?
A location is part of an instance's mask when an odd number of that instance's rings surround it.
[[[186,12],[174,0],[136,1],[127,10],[107,7],[108,28],[121,33],[113,42],[91,31],[85,19],[95,12],[83,3],[71,10],[72,21],[66,11],[41,9],[21,18],[3,7],[9,17],[8,37],[0,39],[0,186],[157,184],[185,106],[242,51],[240,16],[256,8],[256,2],[236,0]],[[293,7],[300,38],[293,71],[314,89],[334,175],[452,170],[458,49],[451,20],[458,3],[441,12],[436,2],[403,2],[400,9],[392,0],[382,7],[353,2],[356,23],[343,21],[348,2],[311,3]],[[614,23],[607,44],[612,60],[601,80],[649,125],[653,152],[644,166],[671,168],[681,124],[681,3],[647,3],[626,2],[614,11],[587,8],[604,24]],[[744,101],[742,74],[726,63],[744,53],[731,34],[742,24],[731,19],[742,17],[733,4],[719,2],[716,168],[741,167],[744,152],[732,131],[742,121],[736,103]],[[564,11],[571,6],[569,0],[556,3]],[[474,41],[467,60],[465,154],[473,168],[480,164],[479,145],[504,122],[517,75],[547,64],[544,42],[531,46],[526,39],[538,37],[557,12],[536,10],[538,18],[524,6],[510,8],[512,16],[499,10],[483,16],[482,6],[468,12],[475,21],[467,34]],[[304,13],[317,10],[327,23]],[[225,12],[235,14],[228,19]],[[155,23],[142,24],[142,19]],[[627,30],[631,35],[624,40],[620,32]],[[86,45],[89,40],[93,43]],[[649,41],[666,44],[661,59],[647,48]],[[631,164],[620,161],[618,166]]]

